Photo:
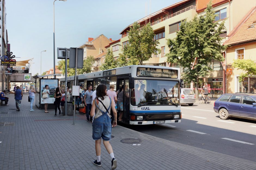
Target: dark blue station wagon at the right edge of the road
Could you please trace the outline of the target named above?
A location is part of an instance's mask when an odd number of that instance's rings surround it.
[[[223,94],[214,102],[214,111],[221,119],[239,117],[256,120],[256,94]]]

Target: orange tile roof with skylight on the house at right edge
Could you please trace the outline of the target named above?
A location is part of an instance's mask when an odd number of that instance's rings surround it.
[[[256,7],[252,9],[249,15],[239,23],[238,27],[235,28],[233,35],[224,42],[225,45],[232,45],[242,43],[246,41],[256,40],[256,25],[252,28],[248,28],[256,22]]]

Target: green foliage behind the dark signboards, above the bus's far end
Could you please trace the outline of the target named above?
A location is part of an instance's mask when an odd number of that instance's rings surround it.
[[[77,69],[77,74],[84,74],[84,73],[90,73],[92,72],[92,66],[94,64],[95,60],[93,56],[88,56],[84,61],[83,61],[83,68],[82,69]],[[65,75],[65,60],[60,60],[58,61],[57,68],[62,72],[63,75]],[[68,60],[68,76],[74,76],[75,75],[75,69],[74,68],[69,68],[69,60]]]

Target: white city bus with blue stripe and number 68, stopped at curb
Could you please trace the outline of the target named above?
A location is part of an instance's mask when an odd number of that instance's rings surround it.
[[[60,79],[64,89],[65,78]],[[68,77],[72,87],[74,76]],[[110,84],[115,91],[124,84],[123,118],[126,124],[144,125],[181,122],[180,69],[131,65],[78,75],[77,85]]]

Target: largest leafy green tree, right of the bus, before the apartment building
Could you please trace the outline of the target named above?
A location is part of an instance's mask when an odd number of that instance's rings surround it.
[[[195,83],[197,97],[199,76],[205,77],[212,71],[208,66],[212,60],[223,61],[222,52],[226,49],[221,45],[223,38],[220,37],[225,29],[224,21],[215,22],[217,15],[212,10],[212,2],[205,11],[205,15],[182,21],[176,38],[167,40],[170,48],[170,53],[166,54],[167,61],[187,68],[181,77],[184,82]]]

